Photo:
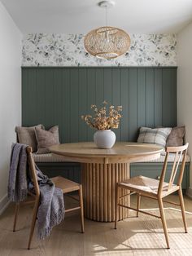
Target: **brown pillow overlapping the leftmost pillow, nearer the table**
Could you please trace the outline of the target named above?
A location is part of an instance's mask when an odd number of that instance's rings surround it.
[[[37,154],[49,153],[49,147],[59,144],[59,126],[53,126],[50,130],[42,130],[35,127],[35,135],[37,139]]]

